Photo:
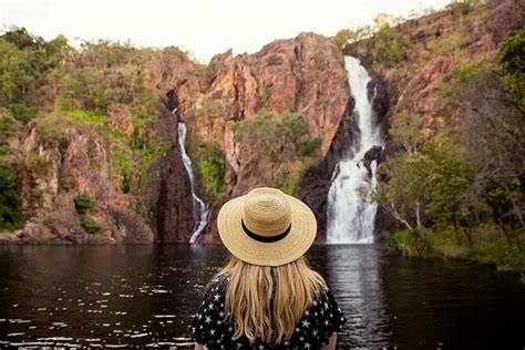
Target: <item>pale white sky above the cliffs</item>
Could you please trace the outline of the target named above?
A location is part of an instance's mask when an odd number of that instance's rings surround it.
[[[409,16],[451,0],[0,0],[0,29],[25,27],[74,45],[106,39],[138,47],[176,45],[207,63],[217,53],[256,52],[300,32],[333,35],[378,13]]]

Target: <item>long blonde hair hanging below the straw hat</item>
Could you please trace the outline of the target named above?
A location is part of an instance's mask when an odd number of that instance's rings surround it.
[[[303,257],[278,267],[257,266],[231,256],[217,276],[228,275],[225,312],[235,321],[234,338],[269,344],[291,338],[311,301],[326,288]]]

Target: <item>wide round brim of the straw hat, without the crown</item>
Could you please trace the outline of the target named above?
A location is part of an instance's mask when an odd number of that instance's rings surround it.
[[[281,266],[300,258],[312,245],[317,220],[301,200],[286,195],[290,203],[291,227],[286,237],[272,243],[249,237],[241,227],[245,196],[227,202],[217,216],[217,228],[223,244],[243,261],[259,266]]]

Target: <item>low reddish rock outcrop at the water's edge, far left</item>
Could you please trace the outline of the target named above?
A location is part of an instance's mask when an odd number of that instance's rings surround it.
[[[32,123],[21,144],[25,164],[22,173],[23,206],[33,213],[18,238],[23,243],[151,243],[155,235],[142,215],[132,207],[133,198],[119,188],[112,167],[112,144],[100,125],[73,125],[61,117],[50,127],[64,127],[55,138],[43,124]],[[41,126],[41,127],[39,127]],[[90,205],[85,213],[75,207],[84,195]],[[99,226],[87,234],[83,218]]]

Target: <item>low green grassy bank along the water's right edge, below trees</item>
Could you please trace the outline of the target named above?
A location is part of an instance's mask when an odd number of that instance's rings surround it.
[[[488,265],[498,271],[519,274],[522,282],[525,282],[525,231],[515,233],[512,241],[511,247],[508,238],[498,234],[492,225],[473,229],[472,247],[469,247],[465,235],[447,227],[401,230],[385,238],[390,251],[405,257],[446,258]]]

